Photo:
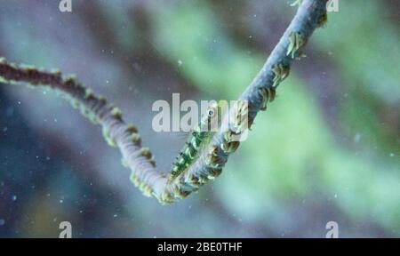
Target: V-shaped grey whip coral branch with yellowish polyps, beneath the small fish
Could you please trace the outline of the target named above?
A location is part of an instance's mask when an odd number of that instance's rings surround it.
[[[267,102],[274,99],[276,87],[289,75],[293,60],[302,56],[301,50],[308,38],[326,21],[327,1],[301,1],[302,4],[284,36],[276,44],[252,84],[239,97],[239,100],[248,102],[248,106],[239,110],[248,114],[249,127],[257,113],[265,110]],[[131,180],[135,186],[144,195],[154,196],[162,204],[188,196],[208,180],[217,177],[228,161],[228,156],[239,146],[238,141],[230,140],[235,132],[217,132],[211,142],[200,151],[196,161],[185,172],[169,180],[170,173],[157,171],[150,150],[141,146],[136,127],[126,124],[118,108],[109,104],[104,97],[85,88],[74,77],[62,76],[59,71],[49,72],[17,66],[0,59],[1,81],[44,85],[60,92],[92,123],[102,126],[108,144],[120,149],[123,164],[131,169]],[[224,119],[224,122],[228,121]]]

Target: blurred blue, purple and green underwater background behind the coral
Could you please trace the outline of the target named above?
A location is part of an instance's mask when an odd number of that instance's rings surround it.
[[[0,56],[60,68],[136,124],[160,170],[185,138],[155,100],[235,100],[292,1],[0,0]],[[400,4],[339,1],[218,179],[142,196],[116,148],[55,93],[0,84],[0,237],[400,236]]]

